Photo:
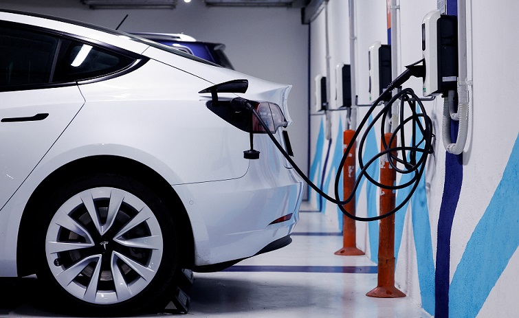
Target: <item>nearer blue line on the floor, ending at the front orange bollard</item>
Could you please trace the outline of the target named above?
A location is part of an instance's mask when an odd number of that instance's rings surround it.
[[[275,272],[275,273],[356,273],[376,274],[377,266],[283,266],[283,265],[234,265],[223,271]]]

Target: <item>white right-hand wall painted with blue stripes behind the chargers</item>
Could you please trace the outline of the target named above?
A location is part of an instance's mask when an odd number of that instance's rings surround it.
[[[351,1],[355,3],[357,33],[357,95],[360,104],[368,104],[367,50],[373,41],[387,43],[386,1]],[[349,38],[345,8],[348,2],[328,2],[333,42]],[[396,214],[395,280],[397,288],[437,317],[516,317],[519,313],[516,301],[519,111],[513,99],[519,85],[516,54],[519,44],[514,36],[514,12],[519,10],[519,3],[467,2],[468,80],[472,81],[467,145],[463,155],[447,155],[441,141],[443,98],[424,102],[436,135],[434,154],[429,157],[423,183],[409,205]],[[403,71],[404,65],[421,59],[421,21],[437,8],[437,1],[399,0],[398,3],[399,39],[393,39],[392,45],[398,46],[399,71]],[[312,79],[326,65],[323,12],[311,23]],[[336,42],[331,47],[329,60],[333,63],[348,54],[346,47]],[[332,79],[332,92],[333,82]],[[413,78],[404,87],[411,87],[421,96],[421,79]],[[359,120],[364,113],[365,109],[361,108]],[[327,126],[327,120],[324,115],[311,118],[312,177],[320,181],[320,174],[324,174],[324,180],[328,180],[324,188],[333,194],[333,177],[329,176],[335,176],[333,161],[340,159],[334,153],[340,154],[342,150],[338,144],[342,143],[340,123],[344,128],[344,114],[329,114],[332,144],[325,171],[322,166],[329,140],[319,133],[320,127]],[[375,135],[378,144],[379,134]],[[453,185],[457,181],[461,184],[459,188]],[[360,192],[358,216],[373,216],[378,212],[378,194],[374,196],[367,188],[364,185]],[[309,198],[313,207],[320,208],[341,227],[342,216],[335,205],[320,206],[313,191]],[[377,223],[357,223],[357,247],[366,251],[373,262],[377,262],[377,243]]]

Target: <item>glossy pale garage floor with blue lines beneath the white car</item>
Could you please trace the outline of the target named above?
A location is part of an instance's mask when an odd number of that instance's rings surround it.
[[[304,207],[303,207],[304,208]],[[219,273],[195,273],[187,315],[140,317],[430,317],[410,298],[366,297],[377,266],[366,256],[338,256],[342,236],[324,214],[302,212],[291,245]],[[34,302],[34,277],[0,280],[0,317],[56,317]]]

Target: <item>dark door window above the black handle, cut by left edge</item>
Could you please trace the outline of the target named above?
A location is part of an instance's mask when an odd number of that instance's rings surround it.
[[[59,39],[0,26],[0,88],[47,84]]]

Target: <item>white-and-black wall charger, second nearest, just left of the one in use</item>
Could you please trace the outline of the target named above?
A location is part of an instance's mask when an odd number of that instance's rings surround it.
[[[369,47],[369,100],[373,102],[392,80],[391,47],[376,41]],[[390,98],[390,96],[389,96]]]

